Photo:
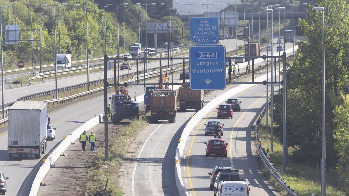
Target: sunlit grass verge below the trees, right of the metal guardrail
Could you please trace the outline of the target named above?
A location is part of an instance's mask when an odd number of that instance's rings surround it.
[[[261,121],[261,141],[263,148],[270,146],[270,118],[269,118],[269,127],[266,129],[266,118],[263,118]],[[274,138],[274,151],[269,151],[270,160],[274,161],[277,168],[280,168],[280,174],[282,178],[287,182],[292,189],[295,190],[295,193],[298,193],[299,196],[302,195],[321,195],[321,184],[320,184],[320,168],[317,166],[309,166],[305,164],[298,164],[292,161],[291,155],[295,152],[296,148],[288,147],[288,164],[286,167],[286,172],[282,172],[282,142],[277,138]],[[266,168],[263,167],[264,173],[268,173]],[[326,171],[326,195],[331,196],[342,196],[345,195],[340,188],[336,188],[336,172],[333,170]],[[269,180],[273,182],[274,187],[280,190],[283,194],[285,193],[284,189],[279,185],[277,181],[274,180],[272,176],[269,175]]]

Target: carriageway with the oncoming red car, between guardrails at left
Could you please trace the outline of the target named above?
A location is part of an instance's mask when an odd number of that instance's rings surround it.
[[[243,41],[238,40],[238,45],[239,44],[240,45],[243,44]],[[235,39],[226,40],[225,46],[227,48],[226,51],[234,50],[235,49]],[[180,55],[180,57],[185,57],[185,56],[188,56],[188,54]],[[163,62],[163,64],[165,65],[166,62]],[[173,63],[178,63],[178,62],[182,62],[182,60],[173,60]],[[100,64],[102,62],[96,62],[96,63]],[[158,67],[158,66],[159,66],[159,61],[154,61],[154,62],[148,63],[148,68],[153,68],[153,67]],[[132,68],[133,69],[130,70],[130,73],[136,72],[135,63],[133,63]],[[143,70],[142,63],[140,63],[139,70]],[[122,70],[122,71],[120,70],[120,75],[127,74],[127,73],[128,73],[128,70]],[[103,72],[90,73],[89,80],[90,81],[98,80],[98,79],[101,79],[103,77],[104,77]],[[108,77],[109,77],[109,71],[108,71]],[[111,77],[114,77],[113,70],[111,71]],[[71,85],[80,84],[80,83],[84,83],[84,82],[87,82],[87,75],[86,74],[69,76],[69,77],[62,77],[62,78],[58,79],[57,87],[61,88],[61,87],[71,86]],[[8,85],[5,85],[5,87],[8,88]],[[4,87],[4,89],[5,89],[5,87]],[[52,89],[55,89],[55,81],[53,79],[47,80],[44,83],[37,83],[37,84],[30,85],[30,86],[27,85],[27,86],[22,86],[22,87],[18,87],[18,88],[6,89],[4,91],[4,103],[6,105],[7,103],[11,103],[11,102],[15,101],[19,97],[30,95],[33,93],[43,92],[43,91],[47,91],[47,90],[52,90]],[[1,97],[0,97],[0,100],[2,100]],[[0,101],[0,103],[1,103],[1,101]]]

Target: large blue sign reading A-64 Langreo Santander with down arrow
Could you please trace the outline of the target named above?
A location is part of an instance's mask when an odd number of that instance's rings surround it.
[[[192,90],[225,89],[224,46],[191,46],[189,68]]]

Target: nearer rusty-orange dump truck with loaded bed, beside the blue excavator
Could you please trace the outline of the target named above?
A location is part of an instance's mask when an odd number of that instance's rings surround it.
[[[155,90],[151,95],[150,122],[168,120],[176,122],[177,116],[177,92],[167,89]]]

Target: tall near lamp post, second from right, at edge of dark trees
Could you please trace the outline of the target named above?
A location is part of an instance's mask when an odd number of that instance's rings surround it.
[[[275,10],[284,11],[284,38],[285,38],[285,7],[278,7]],[[280,17],[279,17],[280,20]],[[283,95],[282,95],[282,171],[286,172],[286,163],[287,163],[287,125],[286,125],[286,57],[285,57],[285,42],[284,42],[284,52],[283,52]]]

